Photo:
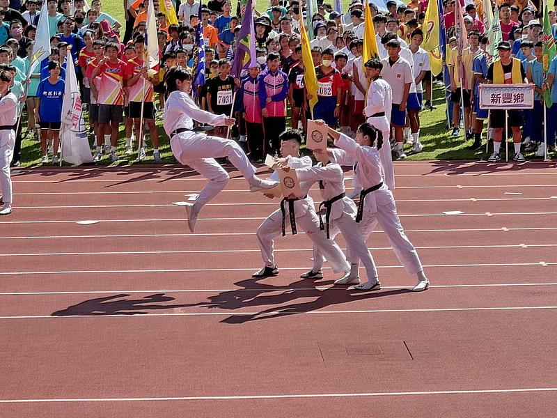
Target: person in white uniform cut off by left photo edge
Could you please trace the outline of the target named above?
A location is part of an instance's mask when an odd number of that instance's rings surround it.
[[[15,146],[14,125],[17,123],[17,98],[10,92],[12,75],[8,71],[0,72],[0,183],[2,185],[3,203],[0,215],[12,212],[12,179],[10,178],[10,162]]]

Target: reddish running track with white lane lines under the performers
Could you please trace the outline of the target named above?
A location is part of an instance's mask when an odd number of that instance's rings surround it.
[[[303,233],[276,240],[278,277],[251,279],[277,203],[235,171],[195,234],[173,205],[205,181],[188,169],[16,172],[0,417],[553,417],[556,164],[395,172],[425,293],[381,231],[368,245],[382,291],[333,288],[327,269],[299,279]]]

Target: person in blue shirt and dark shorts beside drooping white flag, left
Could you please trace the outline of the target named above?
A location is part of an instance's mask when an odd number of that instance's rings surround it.
[[[37,89],[38,123],[40,125],[40,149],[42,163],[48,162],[47,141],[52,137],[54,154],[52,164],[58,162],[58,146],[60,145],[60,127],[62,125],[62,102],[64,98],[65,82],[60,77],[62,70],[58,61],[48,63],[49,77],[42,79]]]

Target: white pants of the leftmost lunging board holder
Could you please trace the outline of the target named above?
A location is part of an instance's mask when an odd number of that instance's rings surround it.
[[[285,216],[286,224],[289,225],[288,213]],[[281,210],[278,209],[272,212],[257,229],[261,256],[265,265],[269,267],[276,265],[274,261],[274,238],[282,233],[282,221],[283,215]],[[319,229],[319,218],[314,210],[308,210],[304,215],[296,217],[296,224],[303,229],[306,235],[308,235],[308,238],[311,239],[313,248],[317,248],[320,254],[327,257],[327,261],[329,261],[329,265],[331,265],[331,269],[334,273],[347,272],[350,270],[350,264],[347,263],[343,251],[340,250],[334,240],[328,240],[324,231]]]

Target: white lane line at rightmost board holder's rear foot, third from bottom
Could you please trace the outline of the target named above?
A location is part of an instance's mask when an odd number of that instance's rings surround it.
[[[552,283],[490,283],[490,284],[438,284],[431,285],[430,289],[436,288],[489,288],[489,287],[508,287],[508,286],[557,286],[557,282]],[[404,289],[412,286],[383,286],[382,289]],[[134,293],[221,293],[221,292],[257,292],[274,293],[284,291],[346,291],[344,287],[334,286],[315,286],[315,288],[291,288],[288,286],[276,286],[274,288],[230,288],[230,289],[157,289],[152,291],[59,291],[59,292],[3,292],[0,296],[48,296],[48,295],[113,295],[114,293],[134,294]]]

